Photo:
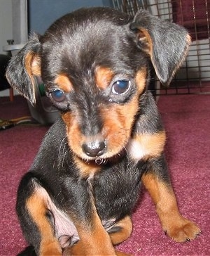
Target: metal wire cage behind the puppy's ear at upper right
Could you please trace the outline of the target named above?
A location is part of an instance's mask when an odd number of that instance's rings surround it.
[[[145,8],[162,20],[183,25],[192,37],[170,87],[157,81],[156,95],[210,94],[210,0],[113,0],[113,7],[130,15]]]

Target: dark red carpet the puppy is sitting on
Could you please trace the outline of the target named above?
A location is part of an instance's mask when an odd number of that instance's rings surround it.
[[[158,102],[167,130],[166,155],[181,212],[197,222],[202,235],[175,243],[160,228],[151,198],[143,193],[133,215],[134,231],[120,250],[134,255],[210,255],[210,98],[207,95],[161,96]],[[0,119],[29,115],[26,101],[0,98]],[[16,190],[48,127],[17,126],[0,132],[0,255],[25,247],[15,215]]]

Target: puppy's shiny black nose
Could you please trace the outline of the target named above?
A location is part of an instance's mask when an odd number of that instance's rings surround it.
[[[90,156],[90,157],[96,157],[99,155],[102,155],[104,153],[104,149],[106,148],[104,140],[92,140],[87,141],[82,146],[83,152]]]

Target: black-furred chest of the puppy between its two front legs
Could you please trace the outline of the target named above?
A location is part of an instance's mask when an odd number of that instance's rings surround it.
[[[90,186],[101,219],[130,215],[139,198],[141,172],[134,167],[119,165],[103,169],[90,178]]]

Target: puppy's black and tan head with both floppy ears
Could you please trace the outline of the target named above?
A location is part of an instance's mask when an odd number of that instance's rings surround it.
[[[168,84],[186,55],[183,27],[139,11],[134,18],[109,8],[80,9],[34,34],[6,76],[35,103],[34,76],[61,110],[69,146],[85,160],[125,148],[146,90],[148,67]]]

